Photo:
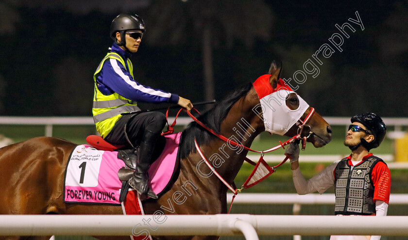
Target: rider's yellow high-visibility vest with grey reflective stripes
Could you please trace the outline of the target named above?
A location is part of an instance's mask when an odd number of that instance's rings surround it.
[[[139,111],[140,109],[136,106],[137,103],[129,100],[123,96],[120,96],[117,93],[113,93],[111,95],[103,95],[101,91],[99,91],[97,87],[97,76],[99,72],[102,70],[102,66],[108,59],[116,59],[118,60],[125,68],[125,62],[120,57],[119,54],[114,52],[109,52],[101,61],[98,68],[94,73],[94,84],[95,84],[95,93],[94,93],[94,101],[92,105],[92,113],[93,119],[96,125],[96,129],[104,138],[108,135],[108,133],[112,130],[115,126],[115,123],[119,120],[122,116],[120,113],[122,112],[135,112]],[[129,72],[133,77],[133,65],[132,62],[128,59],[127,64],[129,67]]]

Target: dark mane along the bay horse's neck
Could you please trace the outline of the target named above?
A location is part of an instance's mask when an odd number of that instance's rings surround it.
[[[220,132],[221,122],[225,119],[231,107],[241,97],[246,96],[251,88],[252,83],[247,83],[241,86],[224,100],[217,103],[212,109],[197,117],[197,119],[215,132]],[[191,152],[196,152],[194,138],[196,139],[197,144],[202,145],[208,144],[212,139],[216,138],[216,136],[205,130],[196,122],[191,122],[181,136],[179,149],[180,159],[186,158]]]

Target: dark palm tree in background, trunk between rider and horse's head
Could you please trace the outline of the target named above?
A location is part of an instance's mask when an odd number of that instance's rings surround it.
[[[272,11],[263,0],[160,0],[149,8],[147,42],[152,45],[186,43],[194,34],[200,39],[204,74],[204,98],[214,99],[212,51],[236,39],[251,47],[256,38],[271,37]],[[200,43],[198,43],[200,44]]]

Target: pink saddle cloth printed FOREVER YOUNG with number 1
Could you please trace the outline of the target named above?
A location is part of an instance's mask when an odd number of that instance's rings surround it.
[[[161,155],[149,168],[149,187],[158,196],[169,191],[178,176],[177,156],[181,132],[166,136]],[[71,152],[64,179],[64,202],[120,205],[122,182],[118,171],[125,166],[116,151],[78,145]]]

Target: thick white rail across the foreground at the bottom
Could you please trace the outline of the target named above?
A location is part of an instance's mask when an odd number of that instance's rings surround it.
[[[156,224],[151,234],[231,236],[244,232],[247,240],[257,240],[257,235],[408,236],[408,216],[364,217],[364,221],[361,216],[216,214],[168,215],[166,220],[163,216],[159,224],[150,221]],[[157,216],[1,215],[0,235],[127,236],[148,219]]]

